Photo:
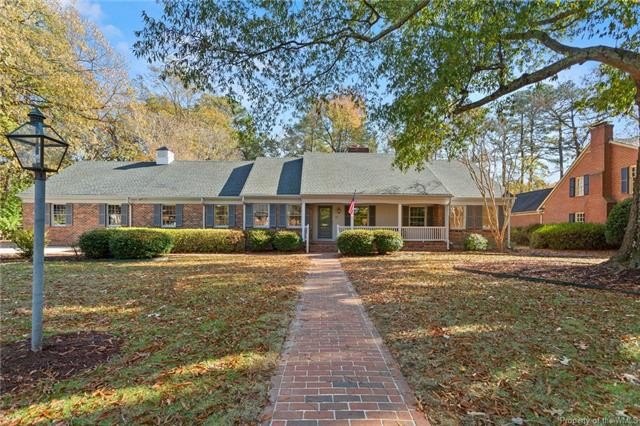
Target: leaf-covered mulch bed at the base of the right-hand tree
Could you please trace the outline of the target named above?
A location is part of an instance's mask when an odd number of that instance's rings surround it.
[[[514,258],[497,262],[465,262],[456,265],[456,269],[504,278],[640,294],[640,270],[620,270],[608,263]]]

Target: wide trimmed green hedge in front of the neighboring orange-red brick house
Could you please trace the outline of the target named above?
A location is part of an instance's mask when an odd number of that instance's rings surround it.
[[[605,226],[599,223],[543,225],[531,234],[531,248],[553,250],[604,250],[609,248]]]

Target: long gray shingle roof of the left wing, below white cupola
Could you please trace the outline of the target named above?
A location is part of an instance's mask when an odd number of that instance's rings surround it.
[[[47,180],[47,197],[237,197],[249,161],[81,161]],[[33,188],[23,193],[33,197]]]

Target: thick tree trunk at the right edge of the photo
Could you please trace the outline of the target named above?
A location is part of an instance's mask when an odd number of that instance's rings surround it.
[[[638,130],[640,134],[640,80],[636,80],[636,105],[638,107]],[[640,150],[636,159],[636,170],[640,171]],[[633,183],[633,202],[629,223],[622,240],[622,246],[614,260],[629,268],[640,268],[640,173],[636,173]]]

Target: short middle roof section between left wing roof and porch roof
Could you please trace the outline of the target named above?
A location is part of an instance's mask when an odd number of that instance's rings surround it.
[[[257,158],[242,195],[299,195],[302,158]]]

